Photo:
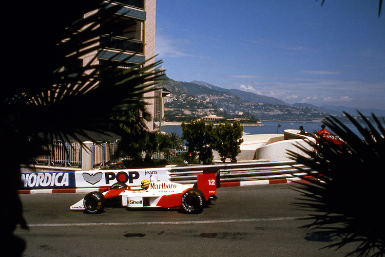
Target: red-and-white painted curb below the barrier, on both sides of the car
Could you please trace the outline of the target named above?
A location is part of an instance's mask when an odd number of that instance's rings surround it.
[[[277,179],[263,179],[263,180],[249,180],[249,181],[235,181],[235,182],[221,182],[221,187],[244,187],[244,186],[258,186],[258,185],[270,185],[280,183],[292,183],[306,181],[298,177],[295,178],[277,178]],[[63,189],[23,189],[18,190],[19,194],[54,194],[54,193],[89,193],[92,191],[103,192],[106,190],[103,188],[63,188]]]

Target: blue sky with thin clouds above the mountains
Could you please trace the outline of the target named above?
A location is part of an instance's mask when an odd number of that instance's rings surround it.
[[[385,7],[321,2],[158,0],[156,53],[176,81],[385,109]]]

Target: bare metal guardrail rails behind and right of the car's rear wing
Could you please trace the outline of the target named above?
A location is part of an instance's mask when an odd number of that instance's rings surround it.
[[[296,161],[253,161],[247,163],[214,164],[207,166],[174,167],[170,180],[178,183],[195,183],[203,171],[219,171],[221,182],[298,178],[307,175],[298,168],[312,171]]]

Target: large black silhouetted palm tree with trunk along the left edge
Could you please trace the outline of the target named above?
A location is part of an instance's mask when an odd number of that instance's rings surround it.
[[[143,95],[157,89],[155,68],[160,62],[122,70],[118,67],[128,58],[113,61],[121,54],[117,52],[103,63],[75,65],[90,54],[96,60],[94,53],[108,47],[108,42],[100,43],[100,36],[112,28],[127,27],[125,22],[117,22],[123,15],[116,13],[121,6],[93,0],[68,0],[60,8],[57,4],[8,1],[2,8],[6,11],[2,16],[10,21],[4,26],[3,43],[8,51],[3,56],[7,65],[2,68],[5,76],[0,87],[1,143],[6,150],[3,179],[8,194],[4,231],[10,241],[17,240],[13,236],[17,224],[27,227],[17,194],[20,165],[55,139],[82,142],[85,137],[94,141],[89,132],[106,133],[109,123],[124,122],[110,117],[143,108]],[[83,16],[91,10],[98,11]]]

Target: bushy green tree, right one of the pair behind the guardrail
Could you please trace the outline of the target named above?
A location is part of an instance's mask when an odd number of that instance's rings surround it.
[[[222,162],[225,162],[226,158],[237,162],[237,155],[241,152],[239,145],[243,143],[242,132],[243,126],[238,121],[233,124],[226,121],[215,127],[213,146],[221,156]]]

